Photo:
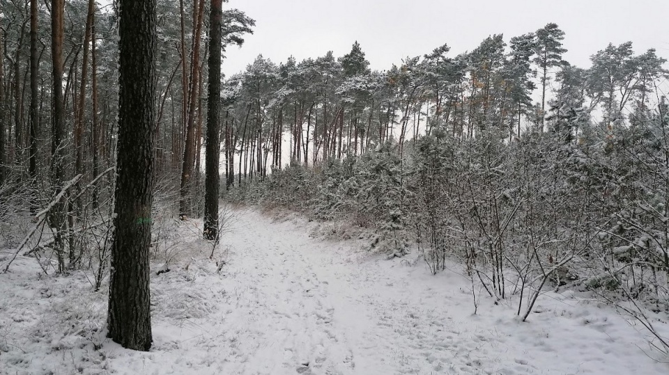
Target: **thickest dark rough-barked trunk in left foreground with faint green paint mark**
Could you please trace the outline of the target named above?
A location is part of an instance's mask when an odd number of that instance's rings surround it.
[[[149,246],[153,204],[155,0],[121,0],[118,156],[109,282],[109,337],[151,348]]]

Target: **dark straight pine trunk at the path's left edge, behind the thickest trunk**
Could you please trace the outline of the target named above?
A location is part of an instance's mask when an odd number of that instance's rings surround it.
[[[204,238],[210,240],[218,236],[222,8],[222,0],[211,0],[203,232]]]

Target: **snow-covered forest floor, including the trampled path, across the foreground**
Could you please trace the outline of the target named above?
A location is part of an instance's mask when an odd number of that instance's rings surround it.
[[[477,291],[474,315],[456,264],[431,276],[416,255],[313,238],[318,224],[295,216],[235,214],[211,261],[192,223],[176,225],[146,353],[105,338],[106,294],[85,273],[17,258],[0,274],[0,374],[669,374],[643,330],[597,301],[549,292],[523,323],[516,301]]]

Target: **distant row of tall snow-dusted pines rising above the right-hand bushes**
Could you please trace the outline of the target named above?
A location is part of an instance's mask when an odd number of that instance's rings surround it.
[[[654,49],[636,55],[631,42],[609,45],[582,69],[562,60],[563,38],[547,24],[508,44],[493,35],[457,56],[443,45],[383,72],[369,69],[357,42],[341,58],[277,65],[259,56],[224,85],[227,185],[391,139],[403,154],[406,141],[436,127],[460,139],[494,130],[509,142],[543,129],[573,141],[592,113],[624,126],[659,102],[664,60]]]

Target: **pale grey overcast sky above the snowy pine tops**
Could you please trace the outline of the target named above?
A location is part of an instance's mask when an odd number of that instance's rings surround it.
[[[343,56],[357,40],[372,69],[447,43],[451,56],[475,49],[488,35],[504,39],[555,22],[566,33],[564,58],[581,67],[609,42],[631,40],[639,54],[654,47],[669,59],[669,0],[230,0],[256,20],[245,45],[229,47],[223,72],[244,70],[262,54],[275,63],[332,50]]]

